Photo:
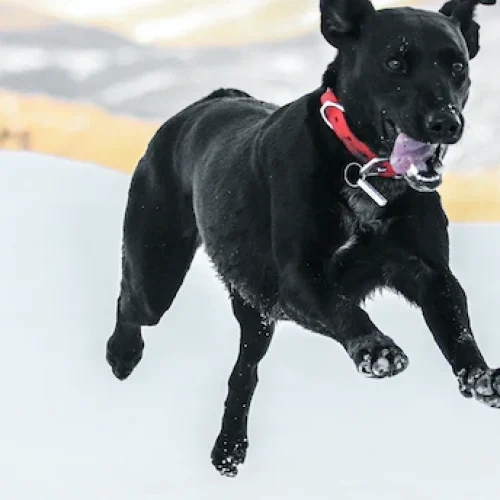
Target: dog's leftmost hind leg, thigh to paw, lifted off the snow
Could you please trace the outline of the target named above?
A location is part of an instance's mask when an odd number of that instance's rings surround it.
[[[191,203],[163,169],[143,159],[134,173],[123,230],[116,327],[107,344],[114,375],[124,380],[142,358],[142,326],[156,325],[172,304],[199,245]],[[172,177],[172,178],[169,178]]]

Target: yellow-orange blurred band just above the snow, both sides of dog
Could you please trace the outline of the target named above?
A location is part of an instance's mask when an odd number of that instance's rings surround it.
[[[0,147],[6,149],[29,149],[131,173],[159,125],[90,104],[0,91]],[[448,173],[440,193],[452,221],[500,221],[500,169]]]

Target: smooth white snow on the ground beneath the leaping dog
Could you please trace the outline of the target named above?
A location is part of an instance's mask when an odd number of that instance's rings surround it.
[[[219,477],[209,455],[238,333],[204,254],[118,382],[104,352],[130,178],[6,151],[0,174],[2,500],[496,498],[500,413],[459,395],[420,313],[388,294],[369,310],[408,370],[364,379],[337,344],[282,324],[247,464]],[[500,365],[500,226],[453,225],[451,241],[476,337]]]

